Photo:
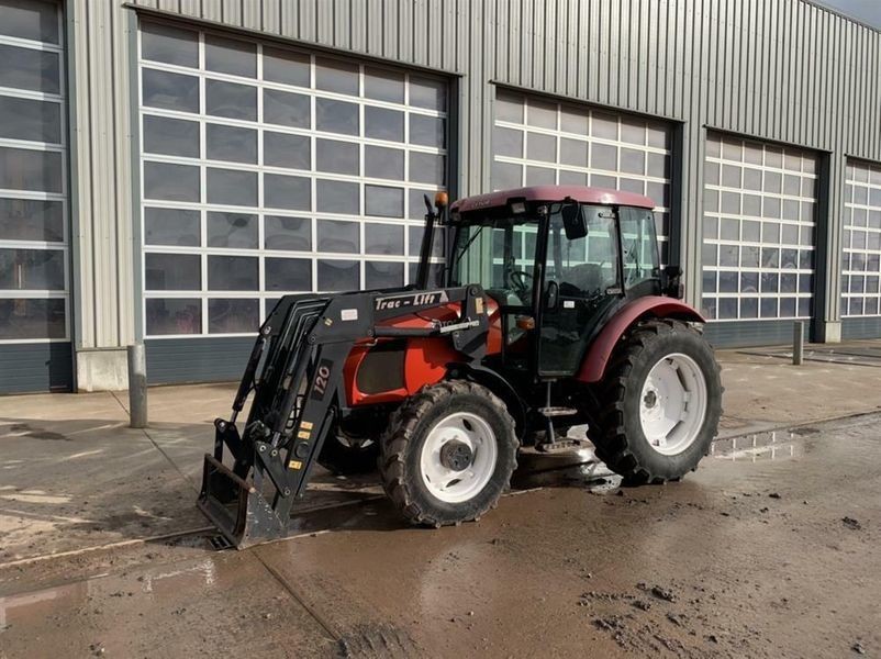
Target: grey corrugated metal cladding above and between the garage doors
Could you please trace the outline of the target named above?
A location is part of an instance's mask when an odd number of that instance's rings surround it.
[[[127,10],[74,9],[82,345],[133,334]],[[829,153],[822,315],[838,320],[845,155],[881,160],[881,33],[803,0],[135,0],[462,76],[459,191],[489,186],[492,83],[683,122],[681,263],[698,302],[707,127]],[[674,210],[676,213],[676,210]]]

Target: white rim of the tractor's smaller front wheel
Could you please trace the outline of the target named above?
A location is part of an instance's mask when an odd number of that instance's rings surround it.
[[[454,440],[468,445],[471,450],[471,463],[462,471],[450,469],[440,459],[444,445]],[[477,414],[456,412],[438,421],[422,445],[422,482],[440,501],[468,501],[492,478],[498,455],[495,433],[490,425]]]

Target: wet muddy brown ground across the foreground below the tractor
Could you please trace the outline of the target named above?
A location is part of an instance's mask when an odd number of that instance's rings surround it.
[[[459,527],[365,487],[244,551],[197,532],[7,563],[0,657],[881,657],[880,424],[729,439],[665,487],[524,456]]]

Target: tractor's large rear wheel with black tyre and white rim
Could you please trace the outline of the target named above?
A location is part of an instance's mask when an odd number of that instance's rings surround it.
[[[680,321],[647,322],[624,339],[600,394],[596,456],[625,481],[662,483],[698,467],[722,414],[713,349]]]

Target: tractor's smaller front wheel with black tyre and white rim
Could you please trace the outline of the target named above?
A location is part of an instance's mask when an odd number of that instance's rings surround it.
[[[380,445],[382,484],[413,524],[477,520],[508,488],[517,446],[514,420],[489,389],[440,382],[392,415]]]

